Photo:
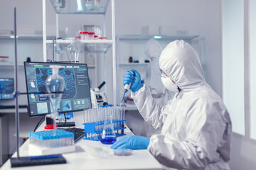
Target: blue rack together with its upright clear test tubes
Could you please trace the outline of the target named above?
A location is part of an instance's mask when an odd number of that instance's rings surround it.
[[[124,107],[100,106],[100,108],[87,109],[84,113],[85,138],[84,140],[99,141],[104,128],[105,115],[112,115],[112,124],[117,137],[124,134]]]

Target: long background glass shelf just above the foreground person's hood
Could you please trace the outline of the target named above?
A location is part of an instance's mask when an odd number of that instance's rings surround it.
[[[193,40],[199,38],[199,35],[119,35],[118,40]]]

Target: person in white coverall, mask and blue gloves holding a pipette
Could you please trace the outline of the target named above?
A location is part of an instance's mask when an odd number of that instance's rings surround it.
[[[183,40],[169,43],[161,52],[162,81],[178,92],[165,106],[152,98],[140,74],[124,74],[132,82],[132,98],[147,123],[161,134],[149,137],[128,135],[114,142],[112,149],[148,149],[164,166],[175,169],[230,169],[232,126],[230,115],[218,94],[203,77],[196,51]]]

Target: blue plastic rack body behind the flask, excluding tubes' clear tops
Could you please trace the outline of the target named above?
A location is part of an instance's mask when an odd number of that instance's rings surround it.
[[[124,127],[124,121],[126,120],[112,120],[114,131],[116,131],[115,135],[117,137],[126,135],[124,134],[124,129],[126,129],[126,127]],[[84,140],[100,140],[104,126],[104,121],[100,121],[97,123],[83,123],[83,125],[85,126],[85,130],[83,131],[85,132]]]

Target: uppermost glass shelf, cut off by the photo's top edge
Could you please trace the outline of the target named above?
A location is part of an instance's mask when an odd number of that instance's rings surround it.
[[[105,14],[110,0],[96,0],[95,9],[88,10],[86,0],[51,0],[56,13],[63,14]]]

